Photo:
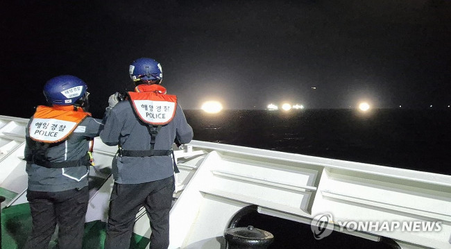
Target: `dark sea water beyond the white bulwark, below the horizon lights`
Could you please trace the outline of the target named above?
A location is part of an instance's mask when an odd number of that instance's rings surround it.
[[[451,110],[185,110],[194,139],[451,175]],[[396,248],[340,232],[317,241],[310,226],[253,213],[253,225],[274,235],[270,249]]]

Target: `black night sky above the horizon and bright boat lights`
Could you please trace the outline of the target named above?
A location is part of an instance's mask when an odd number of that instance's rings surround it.
[[[101,113],[140,57],[184,109],[451,104],[451,1],[193,2],[3,1],[1,114],[30,117],[61,74],[85,80]]]

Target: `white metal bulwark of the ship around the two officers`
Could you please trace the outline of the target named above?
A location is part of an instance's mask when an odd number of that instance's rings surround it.
[[[27,122],[0,116],[0,187],[8,193],[3,211],[27,202]],[[451,175],[205,141],[175,149],[180,173],[170,216],[171,249],[225,248],[225,230],[246,207],[309,225],[316,216],[331,214],[326,225],[333,232],[390,239],[398,248],[451,248]],[[109,172],[116,151],[95,139],[96,166],[90,178],[97,184],[90,190],[87,223],[107,220],[113,183]],[[346,227],[342,221],[355,222]],[[357,221],[401,226],[359,230],[352,227]],[[433,227],[402,229],[404,223]],[[143,238],[151,234],[144,209],[136,217],[134,233]]]

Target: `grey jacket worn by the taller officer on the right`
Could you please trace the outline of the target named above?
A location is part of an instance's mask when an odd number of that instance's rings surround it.
[[[145,85],[144,90],[164,89],[160,85]],[[144,91],[146,92],[146,91]],[[165,92],[165,89],[164,89]],[[151,135],[146,124],[139,119],[130,101],[121,101],[105,112],[105,127],[100,133],[103,143],[121,146],[124,150],[144,151],[151,148]],[[185,114],[176,105],[173,119],[162,126],[155,138],[155,150],[170,150],[174,139],[185,144],[193,138],[193,130]],[[161,180],[173,175],[170,155],[151,157],[116,156],[112,163],[114,181],[119,184],[139,184]]]

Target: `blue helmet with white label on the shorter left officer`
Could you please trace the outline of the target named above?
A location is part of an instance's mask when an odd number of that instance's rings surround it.
[[[87,85],[71,75],[51,78],[44,85],[44,96],[52,105],[74,105],[80,98],[87,98]]]

